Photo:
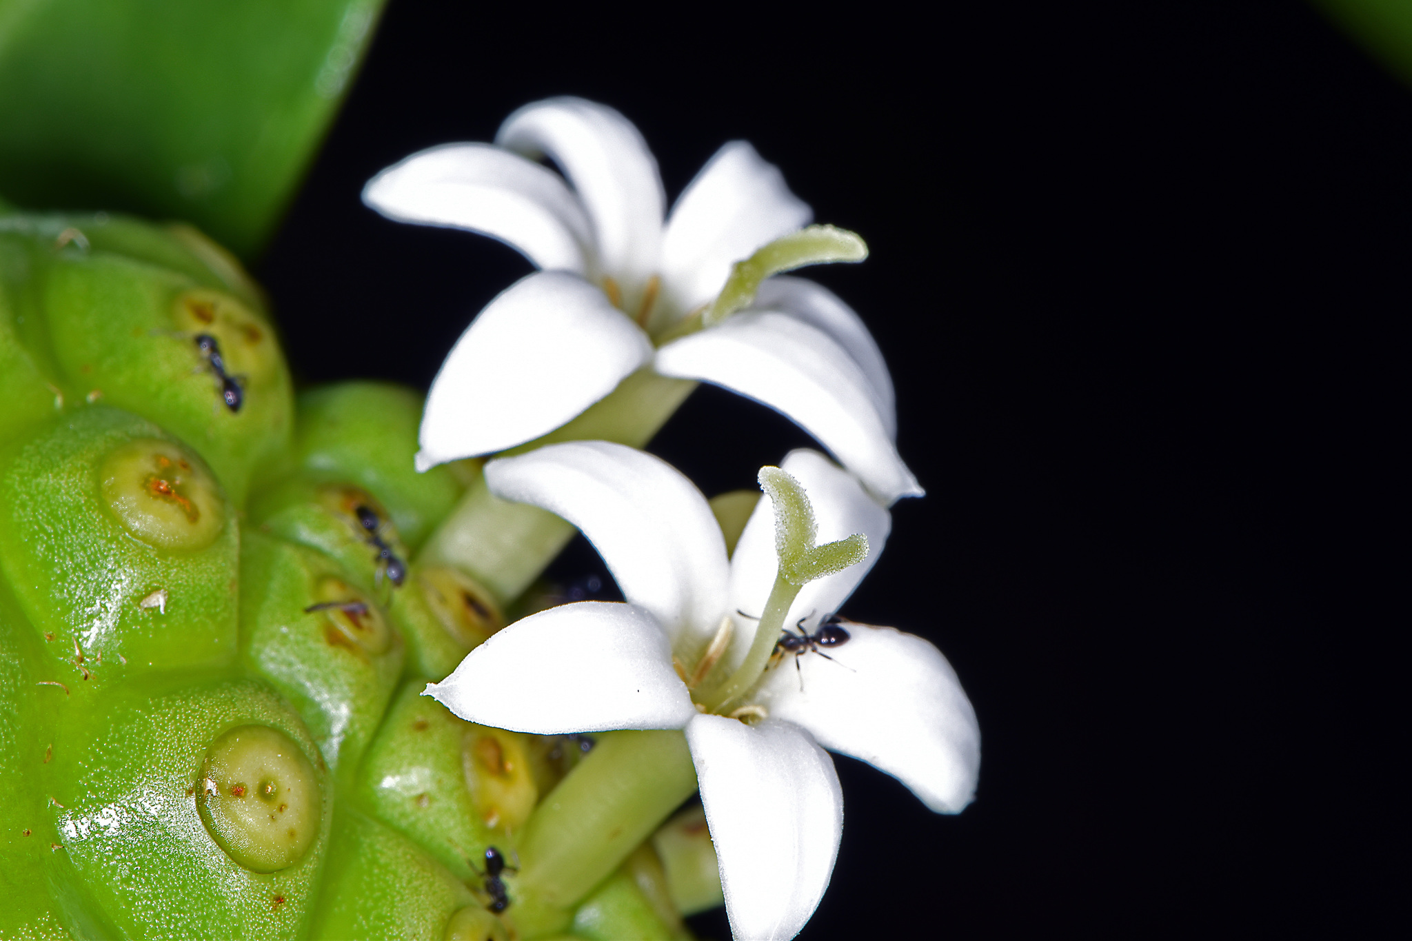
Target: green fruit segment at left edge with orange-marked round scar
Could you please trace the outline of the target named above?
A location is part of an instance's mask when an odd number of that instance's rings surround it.
[[[201,459],[116,409],[0,453],[0,569],[45,641],[44,679],[232,663],[233,516]]]

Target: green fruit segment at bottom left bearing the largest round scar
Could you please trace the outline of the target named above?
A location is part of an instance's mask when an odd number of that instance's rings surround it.
[[[299,718],[264,683],[188,674],[110,688],[103,705],[61,715],[41,767],[55,858],[72,865],[59,896],[86,896],[120,937],[226,937],[234,925],[302,937],[332,800]],[[233,797],[241,783],[246,797]]]

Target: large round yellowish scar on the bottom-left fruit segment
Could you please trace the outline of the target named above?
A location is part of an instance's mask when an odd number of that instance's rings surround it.
[[[313,766],[288,735],[241,725],[206,752],[196,807],[232,859],[253,872],[280,872],[313,845],[322,796]]]

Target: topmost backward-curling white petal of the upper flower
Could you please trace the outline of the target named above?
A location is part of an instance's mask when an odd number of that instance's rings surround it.
[[[554,97],[507,117],[496,142],[563,169],[593,220],[599,262],[624,291],[657,271],[666,196],[631,121],[606,104]]]

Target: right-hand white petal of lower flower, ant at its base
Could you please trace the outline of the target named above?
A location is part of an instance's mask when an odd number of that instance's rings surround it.
[[[786,656],[753,698],[825,748],[892,775],[932,810],[960,813],[976,796],[980,727],[956,670],[919,636],[843,626],[850,638],[829,649],[834,663]]]

